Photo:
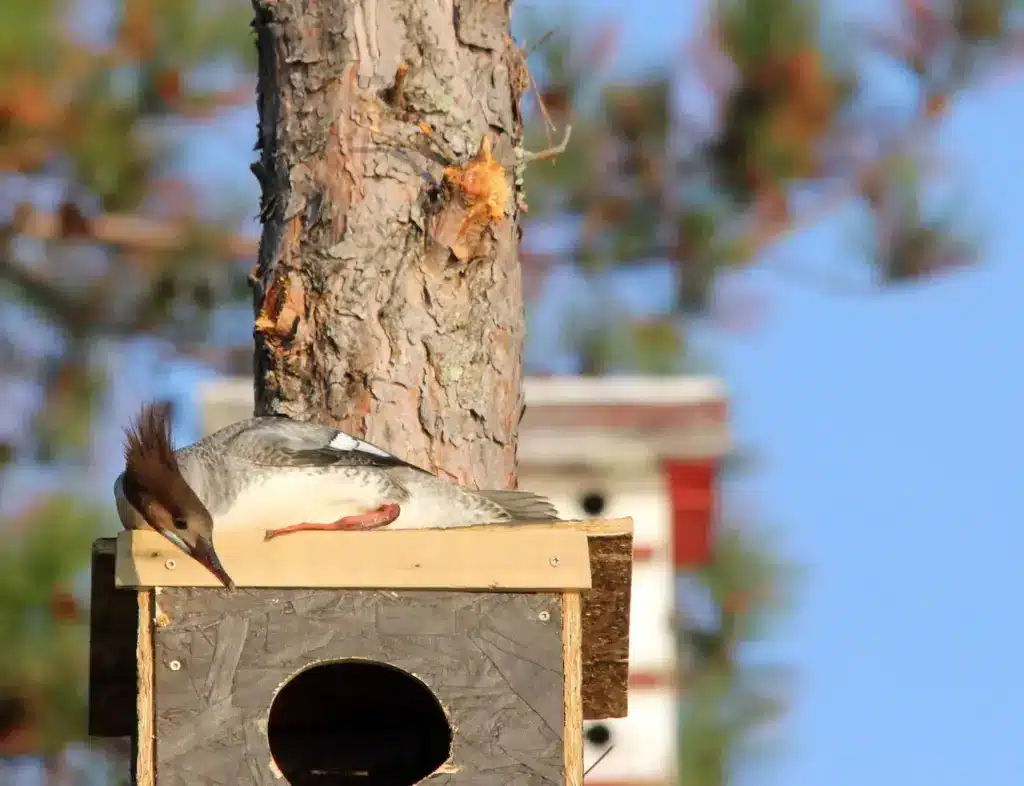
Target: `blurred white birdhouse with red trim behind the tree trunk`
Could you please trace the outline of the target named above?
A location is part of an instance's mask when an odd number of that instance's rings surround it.
[[[565,519],[632,516],[629,716],[586,729],[588,786],[673,781],[681,655],[673,634],[674,567],[698,561],[729,452],[725,392],[710,378],[528,378],[519,485]],[[249,417],[250,379],[202,392],[208,434]]]

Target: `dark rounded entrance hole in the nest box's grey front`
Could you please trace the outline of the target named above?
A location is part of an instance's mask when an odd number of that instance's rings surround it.
[[[291,786],[413,786],[452,749],[452,727],[430,689],[369,660],[292,678],[270,705],[267,737]]]

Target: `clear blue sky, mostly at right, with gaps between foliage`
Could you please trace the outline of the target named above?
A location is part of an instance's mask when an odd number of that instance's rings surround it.
[[[586,8],[592,21],[622,21],[615,66],[630,71],[677,56],[693,5]],[[751,783],[1024,779],[1022,87],[1017,79],[965,96],[939,136],[967,187],[965,213],[984,232],[982,269],[872,297],[829,296],[778,275],[794,260],[855,264],[825,226],[744,277],[771,305],[758,331],[701,337],[732,390],[740,441],[762,460],[748,492],[807,571],[773,648],[798,671],[781,755]],[[188,168],[208,182],[237,177],[254,194],[238,155],[252,134],[249,113],[205,132]],[[631,301],[656,306],[662,275],[620,283]],[[532,352],[553,350],[545,312],[575,287],[552,281]],[[187,399],[203,376],[145,362],[125,364],[122,404],[141,394],[139,379]],[[195,412],[184,417],[195,423]]]

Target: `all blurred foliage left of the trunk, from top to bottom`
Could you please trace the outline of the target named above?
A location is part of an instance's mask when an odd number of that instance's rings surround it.
[[[239,211],[200,213],[169,175],[180,128],[252,103],[249,4],[123,0],[98,41],[69,24],[80,6],[11,0],[0,25],[0,179],[16,206],[0,215],[0,383],[37,393],[7,412],[24,426],[0,439],[0,491],[24,463],[69,483],[86,471],[108,403],[98,347],[156,336],[188,351],[246,294],[248,271],[225,253]],[[0,755],[82,738],[72,587],[112,518],[67,495],[0,516]]]

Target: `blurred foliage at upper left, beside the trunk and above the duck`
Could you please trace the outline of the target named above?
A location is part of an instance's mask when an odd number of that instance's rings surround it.
[[[243,294],[247,272],[224,253],[238,211],[193,213],[188,186],[166,179],[181,137],[162,128],[251,102],[248,5],[125,0],[102,45],[68,25],[76,10],[17,0],[8,10],[16,23],[0,33],[0,172],[27,183],[11,194],[12,219],[0,223],[0,297],[28,307],[61,341],[55,360],[14,347],[25,360],[17,376],[43,392],[25,418],[38,445],[30,452],[43,461],[68,460],[66,448],[88,441],[104,400],[102,369],[90,359],[97,339],[156,335],[186,350],[204,340],[213,308]],[[214,67],[229,89],[203,86]],[[57,185],[55,213],[35,201],[37,181]],[[147,224],[147,213],[163,223]],[[42,263],[17,243],[40,222],[50,227]]]

